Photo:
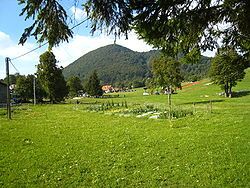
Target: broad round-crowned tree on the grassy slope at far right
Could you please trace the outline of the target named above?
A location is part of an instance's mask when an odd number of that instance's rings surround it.
[[[212,60],[209,75],[214,83],[224,89],[226,97],[232,97],[232,87],[244,78],[248,63],[249,61],[235,50],[220,49]]]

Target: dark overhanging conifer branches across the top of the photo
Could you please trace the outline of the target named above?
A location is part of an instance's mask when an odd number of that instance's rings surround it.
[[[74,2],[76,0],[72,0]],[[58,0],[19,0],[21,15],[33,18],[20,39],[29,36],[51,47],[72,37],[67,14]],[[91,31],[104,30],[115,36],[135,29],[148,44],[169,54],[197,54],[200,50],[230,45],[244,53],[250,49],[249,0],[87,0],[83,3]]]

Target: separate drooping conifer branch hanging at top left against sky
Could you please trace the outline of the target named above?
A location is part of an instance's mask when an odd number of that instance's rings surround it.
[[[19,0],[19,4],[25,4],[20,16],[26,15],[25,20],[34,19],[34,23],[24,30],[19,44],[23,45],[34,36],[38,43],[48,41],[52,49],[73,36],[66,23],[67,13],[57,0]]]

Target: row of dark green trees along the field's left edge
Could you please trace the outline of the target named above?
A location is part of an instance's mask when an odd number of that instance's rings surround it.
[[[36,75],[36,76],[35,76]],[[35,96],[38,101],[48,99],[51,103],[58,103],[65,97],[78,95],[83,86],[78,77],[71,77],[67,82],[62,74],[62,67],[57,66],[57,60],[50,51],[40,56],[40,63],[37,66],[35,75],[11,75],[11,84],[15,84],[13,98],[28,102]],[[88,79],[84,90],[91,96],[102,95],[100,80],[96,71]]]

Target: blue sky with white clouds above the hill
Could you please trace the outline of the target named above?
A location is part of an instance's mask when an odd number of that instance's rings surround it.
[[[76,25],[86,18],[80,3],[74,4],[72,0],[60,1],[69,15],[70,27]],[[78,1],[77,1],[78,2]],[[34,74],[36,65],[39,63],[39,56],[47,50],[47,45],[38,50],[29,53],[21,58],[14,59],[39,46],[34,38],[29,38],[22,46],[18,41],[24,29],[31,25],[32,20],[26,20],[24,16],[19,16],[22,6],[18,5],[17,0],[1,0],[0,6],[0,79],[6,76],[5,58],[13,59],[10,64],[10,74],[19,73],[22,75]],[[53,53],[59,61],[58,66],[66,67],[73,63],[82,55],[95,50],[99,47],[113,44],[114,36],[96,33],[93,36],[90,33],[90,23],[80,25],[73,30],[74,36],[69,43],[61,43],[59,47],[53,48]],[[143,40],[139,40],[134,32],[129,34],[128,40],[121,37],[116,40],[116,44],[127,47],[131,50],[143,52],[153,48],[147,45]],[[213,56],[213,53],[206,52],[204,55]]]

